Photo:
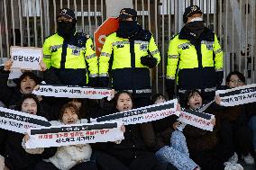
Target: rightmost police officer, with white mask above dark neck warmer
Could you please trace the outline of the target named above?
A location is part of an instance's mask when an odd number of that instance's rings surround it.
[[[202,14],[197,5],[188,6],[185,26],[169,42],[166,87],[172,98],[176,83],[181,102],[188,89],[198,89],[206,101],[213,100],[223,81],[223,51]]]

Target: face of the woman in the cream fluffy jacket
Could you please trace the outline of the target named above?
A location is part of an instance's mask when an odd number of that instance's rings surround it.
[[[65,109],[62,116],[62,121],[64,124],[75,124],[78,121],[78,114],[73,107],[68,107]]]

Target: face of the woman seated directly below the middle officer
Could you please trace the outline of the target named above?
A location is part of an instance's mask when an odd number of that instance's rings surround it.
[[[132,99],[131,99],[130,95],[125,94],[125,93],[120,94],[118,99],[117,99],[116,109],[119,112],[132,110],[133,109],[133,102],[132,102]]]

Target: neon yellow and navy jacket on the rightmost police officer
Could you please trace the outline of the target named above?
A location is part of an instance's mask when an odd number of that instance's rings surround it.
[[[215,91],[223,79],[223,51],[215,33],[206,28],[195,40],[182,29],[174,36],[169,42],[166,77],[167,82],[176,79],[179,90]]]

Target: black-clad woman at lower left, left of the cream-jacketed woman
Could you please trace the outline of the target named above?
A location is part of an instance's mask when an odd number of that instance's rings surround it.
[[[40,103],[33,94],[25,94],[17,110],[28,114],[41,115]],[[1,132],[5,132],[5,137],[1,134],[0,138],[0,143],[5,141],[5,154],[3,155],[5,166],[10,170],[34,170],[34,166],[41,159],[52,157],[56,151],[56,148],[47,148],[41,155],[28,154],[22,146],[23,134],[7,130]]]

